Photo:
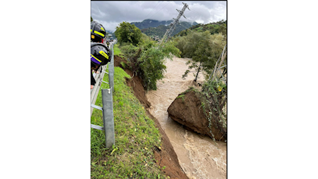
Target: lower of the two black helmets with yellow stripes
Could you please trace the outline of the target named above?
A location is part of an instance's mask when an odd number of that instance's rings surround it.
[[[93,65],[106,65],[111,61],[111,50],[102,43],[91,42],[91,63]]]

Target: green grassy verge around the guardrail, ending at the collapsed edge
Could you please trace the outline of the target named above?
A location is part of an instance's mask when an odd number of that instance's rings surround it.
[[[115,67],[115,145],[106,149],[104,131],[91,128],[91,178],[165,178],[153,154],[153,149],[162,144],[160,132],[124,77],[130,78]],[[109,81],[108,75],[103,80]],[[105,88],[109,85],[102,83],[101,89]],[[101,91],[95,105],[102,106]],[[102,111],[93,110],[91,123],[102,126]]]

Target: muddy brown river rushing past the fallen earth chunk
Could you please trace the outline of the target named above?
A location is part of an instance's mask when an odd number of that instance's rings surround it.
[[[165,78],[157,82],[157,90],[147,92],[147,100],[151,103],[149,112],[158,119],[165,130],[180,166],[190,179],[226,178],[226,143],[212,140],[208,136],[199,136],[196,132],[187,131],[168,116],[167,109],[174,99],[189,86],[194,86],[194,75],[191,72],[183,80],[181,77],[187,70],[187,61],[174,56],[173,61],[167,59]],[[203,82],[203,74],[199,74],[198,83]]]

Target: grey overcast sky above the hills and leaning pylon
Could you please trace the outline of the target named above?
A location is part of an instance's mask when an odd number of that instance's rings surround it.
[[[106,30],[115,32],[122,21],[141,22],[144,19],[168,21],[176,19],[187,3],[180,21],[211,23],[226,19],[226,1],[91,1],[91,17],[102,23]]]

